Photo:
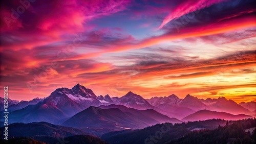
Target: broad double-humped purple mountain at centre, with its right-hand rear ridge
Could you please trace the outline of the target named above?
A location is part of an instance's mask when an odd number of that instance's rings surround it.
[[[122,111],[115,107],[102,109],[91,106],[72,116],[62,125],[76,128],[119,128],[120,130],[127,128],[144,128],[161,123],[157,121],[159,120],[158,116],[163,118],[161,121],[180,122],[176,118],[169,118],[155,110],[139,111],[135,109],[131,110],[129,108],[123,109],[126,109],[126,111]]]

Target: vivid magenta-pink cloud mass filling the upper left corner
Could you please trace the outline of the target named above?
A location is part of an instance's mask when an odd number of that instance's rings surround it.
[[[4,22],[1,22],[0,29],[2,35],[11,37],[3,36],[1,43],[5,46],[1,46],[0,51],[7,46],[13,50],[33,49],[62,41],[63,35],[88,32],[95,27],[89,25],[89,21],[123,11],[130,1],[35,1],[17,19],[8,21],[8,25],[4,17],[12,19],[12,9],[16,10],[21,4],[17,1],[5,3],[1,8],[1,20]]]

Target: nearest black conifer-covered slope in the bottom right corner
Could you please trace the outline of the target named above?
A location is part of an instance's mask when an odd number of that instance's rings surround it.
[[[246,132],[245,129],[256,127],[256,119],[227,121],[226,126],[214,130],[197,130],[169,143],[255,143],[256,131]]]

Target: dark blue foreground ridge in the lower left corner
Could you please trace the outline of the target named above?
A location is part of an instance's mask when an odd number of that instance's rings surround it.
[[[4,131],[4,127],[1,131]],[[40,123],[14,123],[8,126],[9,139],[1,143],[107,143],[94,134],[80,129]],[[12,138],[14,137],[14,138]],[[39,142],[41,141],[41,142]]]

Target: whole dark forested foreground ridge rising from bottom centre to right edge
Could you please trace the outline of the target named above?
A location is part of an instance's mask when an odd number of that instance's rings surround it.
[[[180,143],[192,143],[192,141],[193,143],[223,143],[223,141],[225,141],[224,143],[229,141],[231,141],[230,143],[233,141],[238,141],[238,143],[255,143],[255,141],[253,142],[253,138],[255,139],[253,136],[256,135],[255,128],[256,119],[252,118],[242,121],[210,119],[175,125],[164,123],[139,130],[110,132],[103,134],[101,138],[112,144],[161,144],[179,143],[179,141],[182,141]],[[249,130],[251,130],[250,133],[248,133]],[[194,137],[194,135],[196,136]],[[204,140],[207,140],[207,142]]]

